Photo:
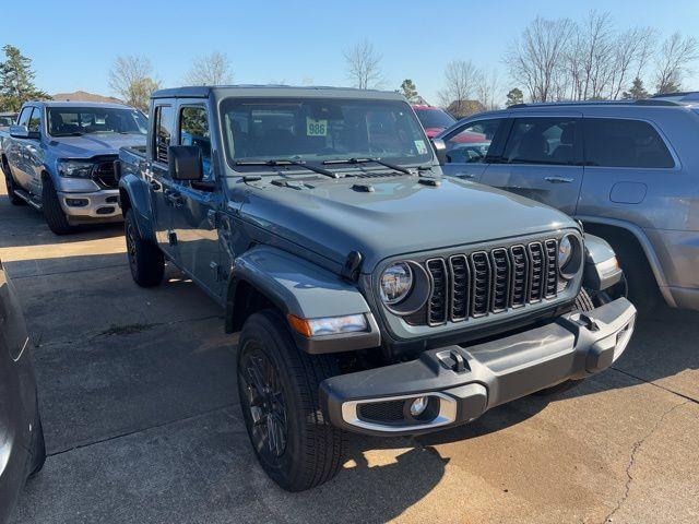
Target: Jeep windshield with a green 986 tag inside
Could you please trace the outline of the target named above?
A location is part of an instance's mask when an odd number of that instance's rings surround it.
[[[227,98],[221,111],[232,166],[271,158],[319,164],[351,157],[393,164],[433,159],[419,122],[400,100]]]

